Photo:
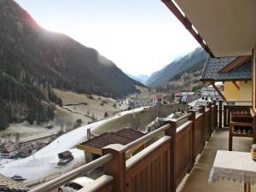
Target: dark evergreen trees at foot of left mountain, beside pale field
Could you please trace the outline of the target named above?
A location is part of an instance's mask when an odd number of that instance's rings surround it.
[[[27,120],[39,125],[54,119],[54,103],[61,105],[61,99],[55,96],[49,84],[32,82],[26,76],[23,81],[17,81],[0,73],[0,130],[11,122]]]

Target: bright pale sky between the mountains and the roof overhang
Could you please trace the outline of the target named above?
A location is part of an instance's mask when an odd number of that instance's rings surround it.
[[[199,46],[160,0],[15,0],[40,26],[150,74]]]

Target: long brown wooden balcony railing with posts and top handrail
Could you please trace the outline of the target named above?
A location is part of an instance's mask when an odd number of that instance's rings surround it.
[[[216,102],[207,103],[197,111],[189,111],[180,119],[168,119],[166,125],[126,146],[120,144],[102,148],[97,160],[44,183],[32,192],[46,192],[80,177],[103,165],[104,176],[79,192],[171,192],[182,182],[195,164],[214,131],[218,117]],[[164,134],[155,143],[126,160],[125,153],[138,143]]]

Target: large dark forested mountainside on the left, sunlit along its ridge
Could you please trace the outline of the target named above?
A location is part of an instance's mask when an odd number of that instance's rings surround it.
[[[121,97],[143,84],[66,35],[45,31],[13,0],[0,1],[0,129],[54,118],[52,88]]]

